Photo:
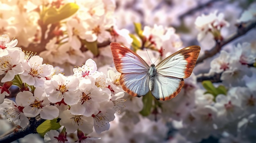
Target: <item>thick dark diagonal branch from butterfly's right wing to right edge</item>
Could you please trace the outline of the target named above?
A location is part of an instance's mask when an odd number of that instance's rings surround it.
[[[256,20],[238,25],[238,29],[236,33],[234,33],[231,37],[227,38],[226,40],[217,42],[216,46],[211,48],[211,50],[204,51],[204,54],[198,57],[196,64],[203,62],[204,59],[207,59],[209,57],[212,57],[213,55],[216,55],[217,53],[220,52],[220,50],[222,49],[222,46],[228,44],[229,42],[235,40],[236,38],[242,35],[245,35],[248,31],[255,28],[255,26],[256,26]]]

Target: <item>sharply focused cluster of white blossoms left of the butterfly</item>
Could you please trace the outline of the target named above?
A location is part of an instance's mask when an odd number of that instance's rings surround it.
[[[110,80],[97,65],[88,59],[81,67],[74,68],[74,75],[64,76],[52,65],[43,64],[38,55],[24,53],[16,47],[17,40],[8,35],[0,37],[2,47],[0,114],[25,128],[28,117],[52,120],[60,118],[65,132],[80,130],[85,134],[94,130],[101,133],[110,128],[115,119],[115,109],[122,107],[124,92],[112,88]],[[7,55],[5,55],[5,53]],[[13,58],[15,56],[16,58]],[[11,85],[20,91],[15,102],[9,96]]]

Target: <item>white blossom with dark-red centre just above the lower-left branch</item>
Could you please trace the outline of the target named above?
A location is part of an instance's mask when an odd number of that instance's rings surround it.
[[[37,87],[34,90],[34,96],[29,91],[19,92],[17,97],[22,99],[23,112],[27,117],[36,117],[40,114],[42,119],[52,120],[58,117],[59,110],[55,106],[50,106],[50,101],[46,97],[43,88]]]

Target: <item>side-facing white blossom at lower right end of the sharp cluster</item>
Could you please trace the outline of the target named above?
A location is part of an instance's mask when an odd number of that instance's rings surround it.
[[[103,131],[109,130],[110,121],[115,119],[115,110],[108,109],[106,111],[99,111],[98,114],[92,114],[94,120],[94,129],[100,134]]]

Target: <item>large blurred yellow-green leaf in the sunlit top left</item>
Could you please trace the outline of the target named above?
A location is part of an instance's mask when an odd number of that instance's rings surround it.
[[[46,25],[59,22],[76,13],[78,9],[79,9],[79,6],[75,3],[67,3],[63,5],[60,9],[50,7],[45,11],[43,22]]]

